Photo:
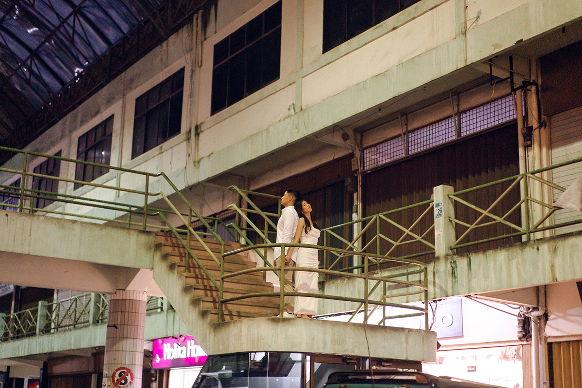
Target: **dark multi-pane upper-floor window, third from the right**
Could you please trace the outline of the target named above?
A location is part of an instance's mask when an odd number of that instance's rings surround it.
[[[136,99],[132,159],[180,133],[184,67]]]

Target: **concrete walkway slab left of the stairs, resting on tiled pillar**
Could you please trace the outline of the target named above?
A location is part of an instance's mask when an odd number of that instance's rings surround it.
[[[0,282],[111,293],[159,294],[155,234],[49,216],[0,211]]]

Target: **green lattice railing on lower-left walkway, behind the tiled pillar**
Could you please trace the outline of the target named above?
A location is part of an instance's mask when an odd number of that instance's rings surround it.
[[[162,298],[148,297],[146,314],[162,311]],[[38,307],[0,315],[0,340],[8,341],[62,330],[84,328],[107,322],[108,296],[85,293],[38,302]]]

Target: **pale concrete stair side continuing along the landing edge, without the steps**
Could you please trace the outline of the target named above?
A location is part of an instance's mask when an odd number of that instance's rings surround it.
[[[437,361],[437,333],[430,330],[279,317],[211,322],[202,298],[192,296],[176,264],[166,261],[162,244],[156,251],[154,280],[207,354],[281,351]]]

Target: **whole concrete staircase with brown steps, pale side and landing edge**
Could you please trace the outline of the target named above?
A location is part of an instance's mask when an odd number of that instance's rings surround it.
[[[434,332],[319,319],[279,318],[278,296],[228,302],[223,306],[223,321],[218,322],[217,287],[193,259],[190,259],[190,273],[186,273],[186,249],[178,239],[166,233],[157,233],[155,239],[152,255],[154,280],[189,329],[189,334],[208,354],[280,351],[436,360],[437,336]],[[215,240],[204,241],[219,257],[220,244]],[[236,243],[226,245],[226,251],[240,247]],[[220,267],[198,241],[191,241],[191,250],[218,280]],[[226,257],[225,273],[254,267],[255,263],[246,255]],[[262,282],[260,272],[248,273],[228,279],[223,297],[272,290],[271,283]],[[386,346],[386,343],[391,346]]]

